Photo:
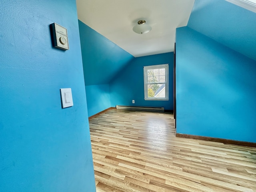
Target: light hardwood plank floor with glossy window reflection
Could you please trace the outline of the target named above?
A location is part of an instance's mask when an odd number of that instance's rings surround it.
[[[176,138],[172,114],[89,120],[97,192],[256,192],[256,148]]]

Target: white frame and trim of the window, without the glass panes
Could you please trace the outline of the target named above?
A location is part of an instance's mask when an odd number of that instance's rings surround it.
[[[165,69],[165,83],[148,83],[148,70],[151,69]],[[152,98],[148,97],[148,84],[165,84],[165,98]],[[144,66],[144,100],[161,100],[168,101],[169,100],[169,64],[160,64],[160,65],[151,65]]]

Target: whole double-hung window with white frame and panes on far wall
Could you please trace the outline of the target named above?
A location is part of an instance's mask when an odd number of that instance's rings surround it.
[[[169,100],[169,64],[144,66],[144,99]]]

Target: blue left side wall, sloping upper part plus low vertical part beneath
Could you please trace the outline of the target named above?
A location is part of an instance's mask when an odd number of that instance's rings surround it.
[[[109,82],[134,57],[78,20],[88,115],[110,108]]]

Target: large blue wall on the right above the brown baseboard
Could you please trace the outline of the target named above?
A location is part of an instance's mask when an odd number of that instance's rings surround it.
[[[177,132],[256,142],[256,61],[176,30]]]

